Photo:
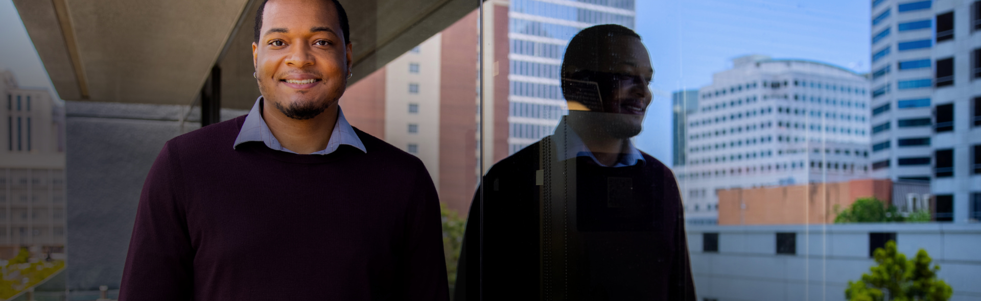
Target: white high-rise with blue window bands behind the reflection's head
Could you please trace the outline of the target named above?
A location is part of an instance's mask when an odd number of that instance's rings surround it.
[[[583,28],[634,28],[635,0],[511,0],[508,154],[551,134],[568,110],[559,85],[562,55]]]

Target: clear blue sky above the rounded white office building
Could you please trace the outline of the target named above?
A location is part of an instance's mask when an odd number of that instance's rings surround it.
[[[655,93],[638,148],[670,165],[671,92],[711,83],[735,57],[762,54],[868,72],[869,10],[863,0],[637,0],[636,29],[650,53]]]

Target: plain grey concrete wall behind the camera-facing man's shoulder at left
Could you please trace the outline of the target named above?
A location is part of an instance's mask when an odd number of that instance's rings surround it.
[[[143,181],[186,106],[67,102],[68,289],[119,288]],[[228,120],[246,111],[223,110]],[[231,145],[229,146],[231,147]]]

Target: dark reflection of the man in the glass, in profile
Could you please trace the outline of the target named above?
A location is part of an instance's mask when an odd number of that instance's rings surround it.
[[[695,300],[677,182],[630,141],[651,99],[640,36],[583,29],[561,75],[569,115],[484,177],[457,298]]]

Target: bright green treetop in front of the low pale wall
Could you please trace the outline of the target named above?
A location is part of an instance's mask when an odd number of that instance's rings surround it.
[[[845,298],[850,301],[945,301],[951,298],[954,290],[942,279],[937,278],[940,266],[930,268],[930,255],[920,249],[916,257],[906,260],[903,253],[896,251],[896,241],[886,242],[885,248],[873,253],[878,266],[872,267],[870,274],[862,274],[861,279],[849,281]]]

